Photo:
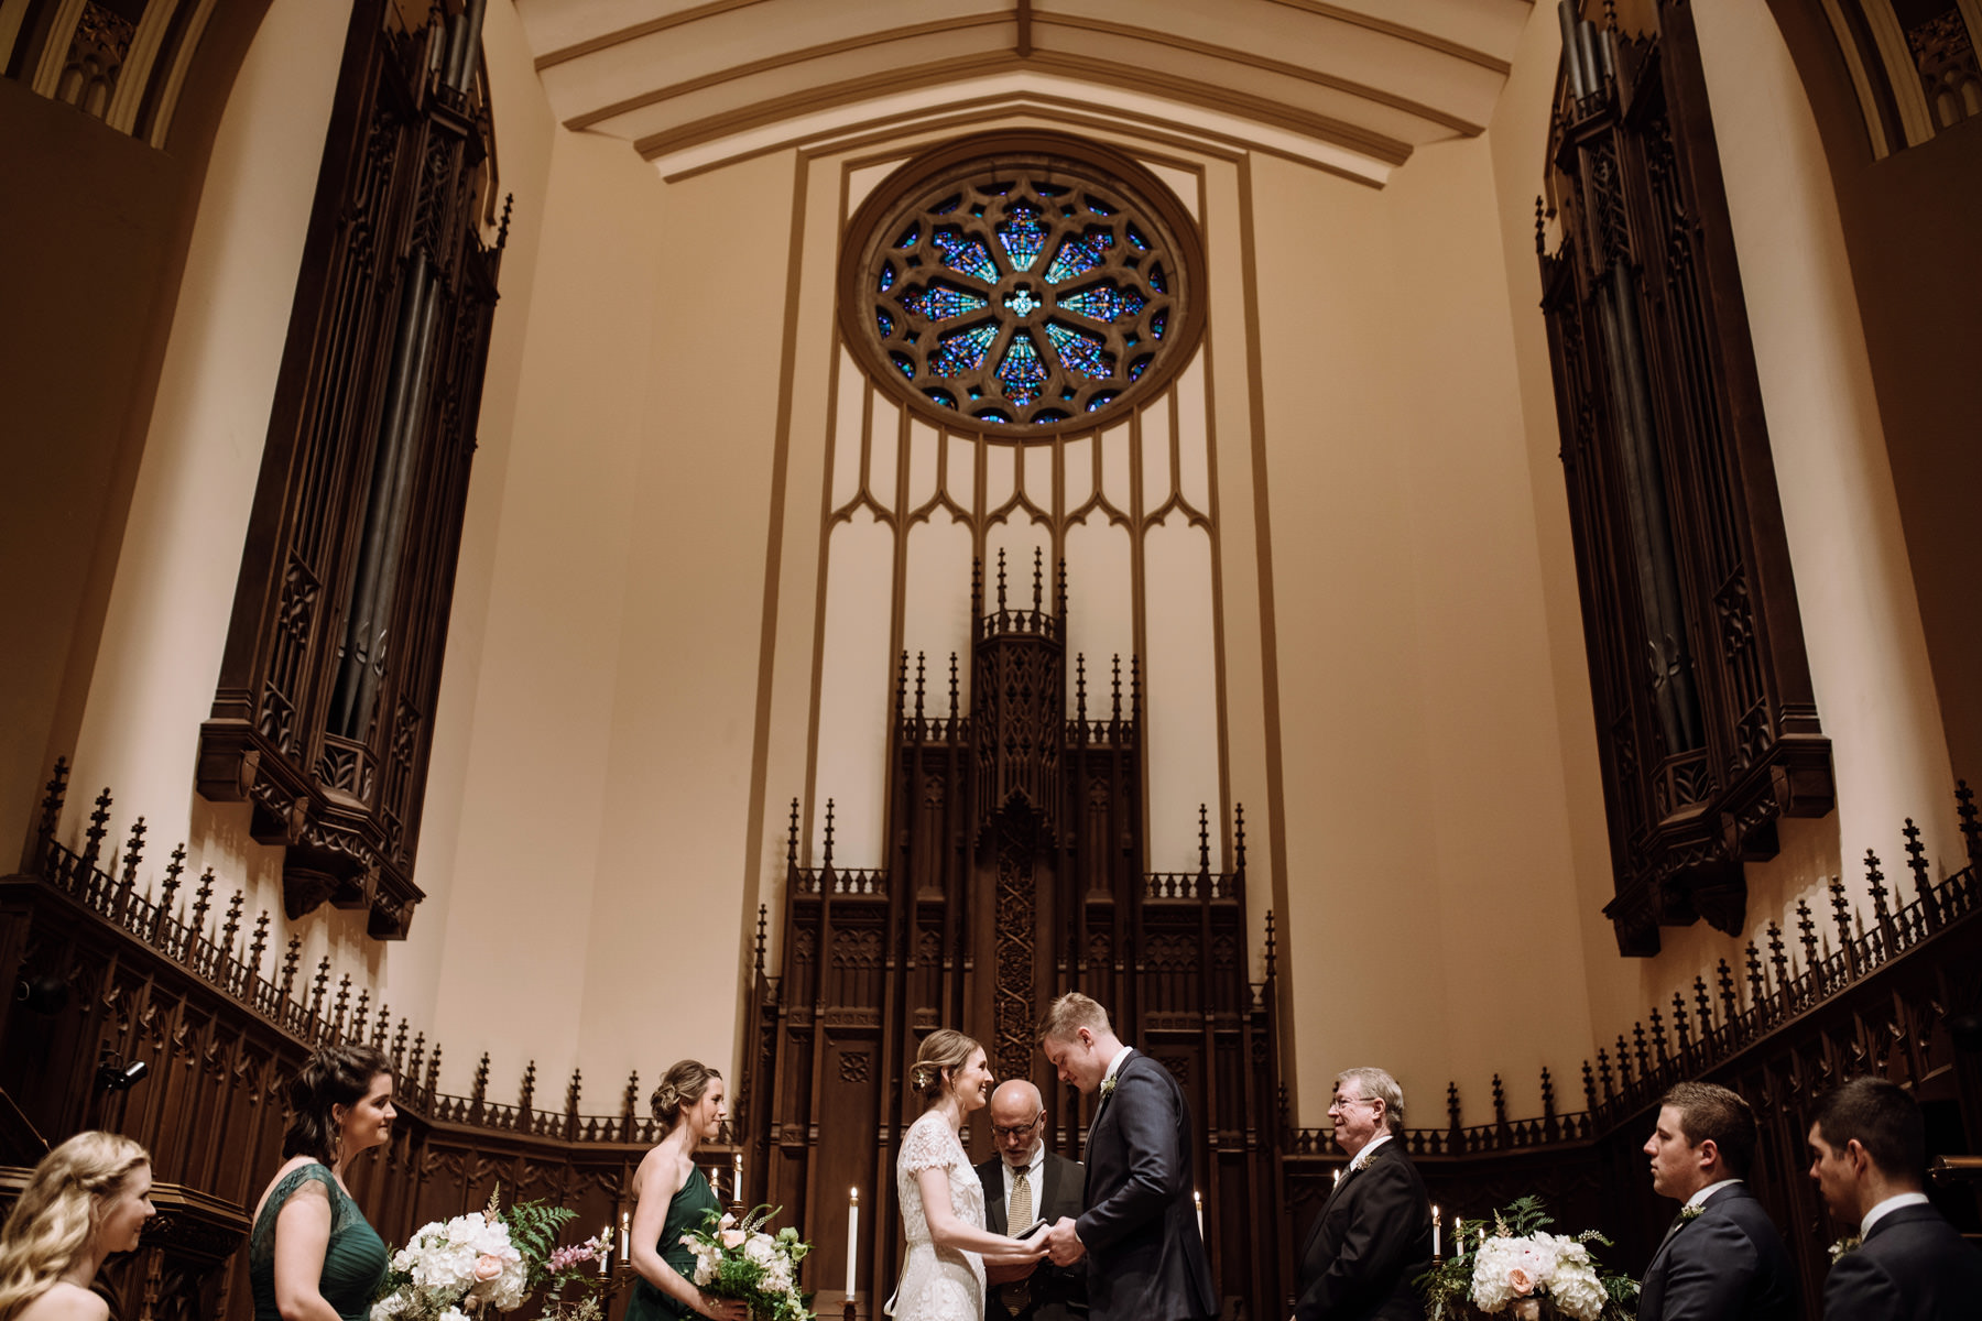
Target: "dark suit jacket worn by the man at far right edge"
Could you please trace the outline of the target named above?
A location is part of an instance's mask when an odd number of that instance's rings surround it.
[[[1982,1252],[1932,1206],[1879,1216],[1823,1279],[1823,1321],[1974,1321]]]

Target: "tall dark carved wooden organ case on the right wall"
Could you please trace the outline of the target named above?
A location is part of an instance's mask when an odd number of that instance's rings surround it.
[[[1625,955],[1705,917],[1831,810],[1693,14],[1596,32],[1564,2],[1542,261]]]

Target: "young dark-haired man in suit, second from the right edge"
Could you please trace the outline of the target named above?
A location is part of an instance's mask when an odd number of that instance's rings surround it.
[[[1651,1258],[1639,1321],[1792,1321],[1796,1268],[1748,1190],[1756,1125],[1748,1103],[1712,1083],[1679,1083],[1645,1143],[1651,1190],[1683,1202]]]

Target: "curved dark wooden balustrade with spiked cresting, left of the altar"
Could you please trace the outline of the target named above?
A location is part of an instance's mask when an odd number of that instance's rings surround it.
[[[248,1317],[248,1210],[281,1163],[283,1089],[319,1042],[367,1040],[396,1073],[398,1123],[349,1180],[388,1242],[420,1224],[503,1200],[545,1198],[577,1212],[571,1238],[620,1226],[628,1180],[660,1139],[638,1075],[618,1113],[581,1111],[583,1079],[537,1097],[535,1064],[513,1103],[490,1099],[482,1058],[468,1095],[438,1091],[442,1048],[392,1020],[351,976],[309,974],[299,941],[270,949],[270,915],[242,921],[242,891],[216,905],[208,871],[188,883],[176,850],[157,889],[139,887],[145,826],[103,862],[109,794],[83,848],[59,844],[65,766],[44,802],[24,875],[0,881],[0,1196],[24,1167],[85,1127],[129,1133],[153,1153],[159,1218],[139,1252],[107,1271],[121,1319]],[[408,1040],[410,1038],[410,1040]],[[149,1073],[107,1091],[99,1071],[143,1062]],[[733,1192],[735,1145],[702,1159]],[[614,1271],[624,1273],[614,1258]]]

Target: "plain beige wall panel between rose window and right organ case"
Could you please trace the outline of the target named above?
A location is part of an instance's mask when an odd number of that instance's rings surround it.
[[[1590,1018],[1492,156],[1253,174],[1298,1119],[1372,1062],[1538,1111]]]

